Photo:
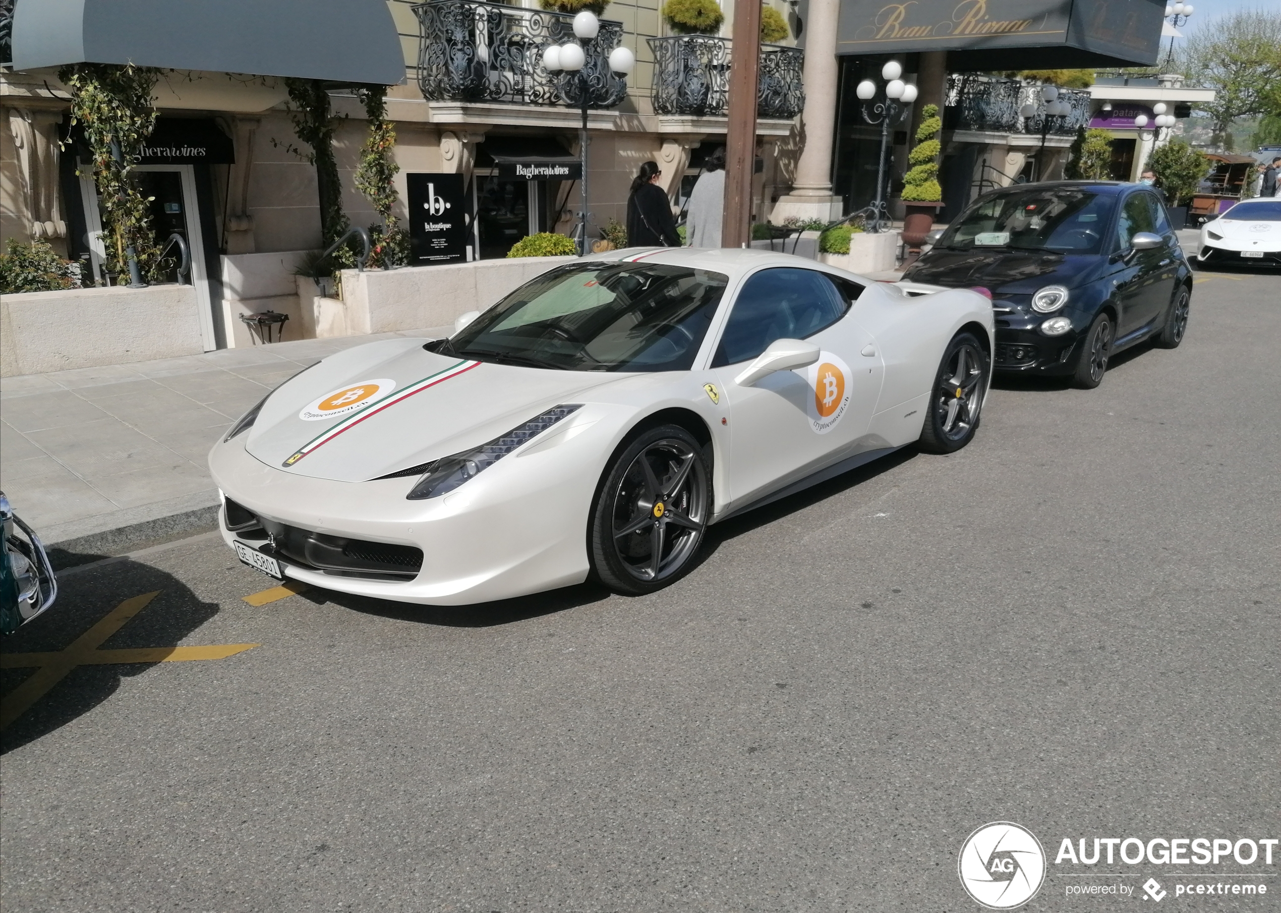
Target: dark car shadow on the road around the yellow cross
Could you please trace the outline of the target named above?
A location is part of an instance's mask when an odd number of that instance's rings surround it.
[[[99,649],[173,647],[218,613],[216,603],[201,601],[177,578],[149,565],[117,561],[85,569],[64,575],[59,580],[54,606],[0,643],[5,666],[12,666],[14,661],[26,662],[24,654],[65,650],[122,602],[155,590],[160,592],[159,595],[124,621],[99,644]],[[156,665],[159,663],[74,666],[0,731],[0,754],[78,720],[110,698],[126,677],[142,675]],[[26,665],[0,670],[0,704],[6,711],[26,703],[22,685],[33,680],[38,671],[38,667]]]

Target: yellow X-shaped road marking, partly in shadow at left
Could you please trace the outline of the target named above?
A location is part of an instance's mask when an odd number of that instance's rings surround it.
[[[223,659],[257,644],[218,644],[214,647],[143,647],[140,649],[97,649],[135,615],[160,595],[160,590],[126,599],[97,624],[72,642],[70,647],[54,653],[0,654],[0,668],[36,668],[31,676],[13,689],[0,706],[0,729],[20,717],[27,709],[67,677],[77,666],[102,666],[131,662],[181,662],[184,659]]]

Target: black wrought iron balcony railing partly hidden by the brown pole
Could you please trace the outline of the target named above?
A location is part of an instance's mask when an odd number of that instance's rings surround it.
[[[724,117],[729,105],[733,42],[708,35],[649,38],[653,51],[653,110],[657,114]],[[804,108],[801,68],[804,51],[761,45],[756,113],[794,118]]]

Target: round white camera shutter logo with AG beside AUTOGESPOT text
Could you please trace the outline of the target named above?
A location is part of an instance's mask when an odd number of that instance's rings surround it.
[[[994,821],[961,844],[961,886],[988,909],[1008,910],[1036,896],[1045,881],[1045,849],[1021,825]]]

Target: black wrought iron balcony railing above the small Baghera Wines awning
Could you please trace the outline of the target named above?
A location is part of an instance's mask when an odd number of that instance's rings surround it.
[[[580,104],[576,77],[548,73],[543,50],[574,41],[574,17],[478,0],[429,0],[414,6],[419,22],[418,85],[428,101]],[[612,108],[628,93],[610,72],[610,51],[623,23],[601,20],[587,47],[588,106]]]

